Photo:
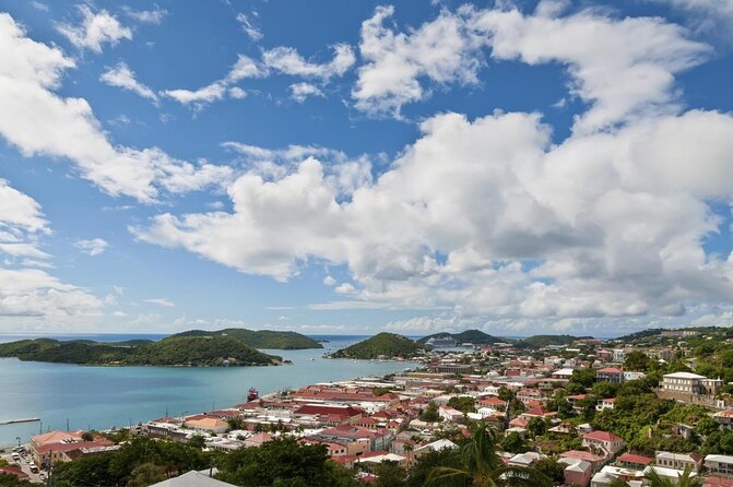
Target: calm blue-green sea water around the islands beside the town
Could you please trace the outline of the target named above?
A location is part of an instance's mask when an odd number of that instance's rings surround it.
[[[119,342],[166,335],[44,335],[58,340]],[[280,367],[87,367],[0,358],[0,421],[39,417],[40,423],[0,425],[0,446],[27,442],[52,429],[107,429],[149,419],[224,408],[260,394],[316,382],[379,377],[414,367],[405,361],[326,359],[323,353],[366,336],[312,335],[328,340],[322,349],[264,351],[293,360]],[[2,335],[1,342],[28,335]]]

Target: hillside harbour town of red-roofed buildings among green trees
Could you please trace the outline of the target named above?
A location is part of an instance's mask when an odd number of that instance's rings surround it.
[[[320,446],[357,483],[419,485],[415,475],[425,475],[425,465],[458,454],[480,429],[490,432],[504,465],[537,471],[553,485],[696,478],[690,485],[733,486],[728,329],[652,330],[606,342],[537,338],[532,347],[446,335],[428,352],[401,357],[418,363],[401,375],[262,396],[250,390],[247,402],[227,408],[110,431],[49,431],[5,455],[0,475],[50,482],[64,464],[113,455],[135,437],[214,455],[288,438]],[[216,472],[202,470],[199,483],[180,485],[210,485]],[[173,478],[161,485],[177,485],[179,474],[186,472],[166,472]]]

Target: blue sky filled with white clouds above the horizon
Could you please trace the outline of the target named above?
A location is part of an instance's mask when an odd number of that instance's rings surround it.
[[[733,0],[0,0],[0,333],[733,324]]]

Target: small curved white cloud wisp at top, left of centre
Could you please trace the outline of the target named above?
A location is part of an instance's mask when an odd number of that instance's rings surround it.
[[[316,78],[328,81],[333,76],[343,76],[356,62],[352,47],[347,44],[333,46],[333,59],[328,63],[314,63],[303,58],[292,47],[275,47],[262,52],[262,61],[268,68],[284,74],[303,78]]]

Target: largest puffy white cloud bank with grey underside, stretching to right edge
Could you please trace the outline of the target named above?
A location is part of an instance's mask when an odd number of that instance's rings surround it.
[[[309,260],[346,264],[350,299],[322,310],[634,317],[733,299],[731,264],[701,248],[720,223],[706,201],[731,197],[733,117],[657,116],[557,146],[536,114],[445,114],[422,130],[347,200],[310,156],[272,180],[241,176],[232,213],[133,231],[281,281]]]

